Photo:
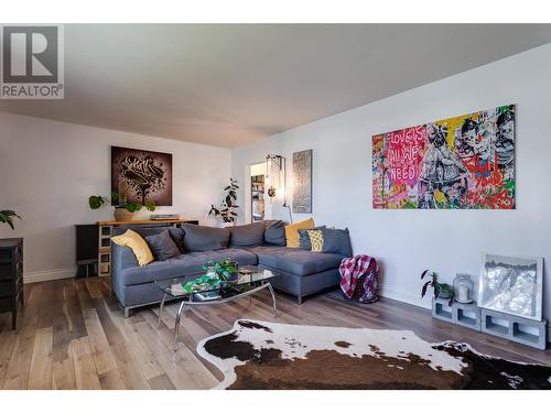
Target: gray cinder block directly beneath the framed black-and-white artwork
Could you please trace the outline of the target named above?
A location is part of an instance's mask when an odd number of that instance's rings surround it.
[[[541,322],[480,308],[482,332],[544,350],[547,320]]]

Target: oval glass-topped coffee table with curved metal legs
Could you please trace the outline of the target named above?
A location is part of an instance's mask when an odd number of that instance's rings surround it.
[[[273,287],[270,284],[270,280],[274,276],[277,276],[277,274],[270,270],[262,270],[258,267],[247,265],[239,268],[239,276],[236,281],[223,281],[215,286],[203,285],[201,290],[192,292],[186,292],[183,289],[185,283],[193,281],[190,276],[155,280],[155,285],[163,292],[163,298],[161,300],[161,306],[159,307],[159,326],[161,325],[161,317],[166,300],[181,300],[174,325],[174,341],[172,351],[176,351],[180,319],[186,306],[223,304],[241,297],[252,296],[252,294],[268,289],[272,296],[273,315],[277,316],[278,308],[276,306],[276,294],[273,293]]]

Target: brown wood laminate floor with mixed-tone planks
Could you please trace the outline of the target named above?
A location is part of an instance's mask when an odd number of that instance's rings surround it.
[[[540,351],[435,320],[430,312],[391,300],[355,305],[337,292],[296,305],[278,294],[273,318],[263,292],[231,304],[186,312],[180,347],[171,351],[175,304],[158,329],[158,307],[123,318],[109,279],[61,280],[25,285],[18,330],[0,314],[0,389],[209,389],[222,373],[197,356],[197,343],[229,329],[237,318],[278,323],[410,329],[429,341],[467,341],[478,351],[551,365]]]

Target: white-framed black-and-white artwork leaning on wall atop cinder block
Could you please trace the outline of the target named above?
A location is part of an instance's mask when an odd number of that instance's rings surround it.
[[[541,320],[543,258],[483,253],[478,306]]]

